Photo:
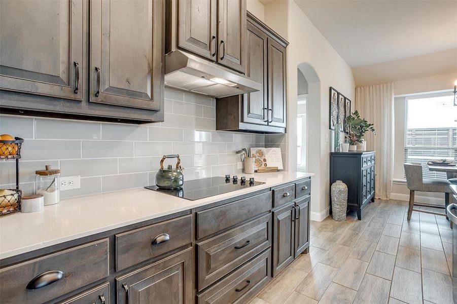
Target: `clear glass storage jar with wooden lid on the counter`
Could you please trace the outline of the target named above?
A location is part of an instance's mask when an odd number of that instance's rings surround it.
[[[35,171],[37,194],[41,194],[44,198],[44,205],[54,205],[60,202],[60,170],[51,169],[50,165],[46,165],[46,170]]]

